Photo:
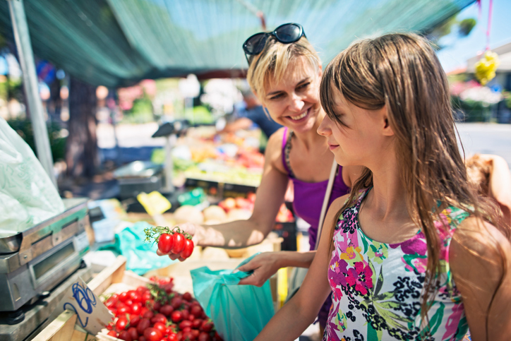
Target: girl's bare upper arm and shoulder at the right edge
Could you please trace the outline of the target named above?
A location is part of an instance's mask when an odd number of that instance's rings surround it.
[[[450,244],[450,267],[474,341],[511,335],[511,245],[493,225],[469,217]],[[488,321],[488,325],[486,325]]]

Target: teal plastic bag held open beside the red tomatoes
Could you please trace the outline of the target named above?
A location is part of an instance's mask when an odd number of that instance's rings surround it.
[[[250,273],[232,271],[191,270],[193,294],[225,341],[252,341],[275,314],[270,281],[262,287],[238,285]]]

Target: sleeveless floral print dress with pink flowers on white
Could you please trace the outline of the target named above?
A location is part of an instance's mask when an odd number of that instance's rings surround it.
[[[328,268],[332,306],[323,340],[462,340],[468,324],[449,268],[449,246],[457,225],[468,213],[449,207],[440,214],[443,222],[435,222],[441,239],[442,272],[428,311],[429,324],[420,328],[426,237],[418,232],[398,244],[366,237],[358,213],[367,193],[363,191],[356,204],[344,210],[335,227],[335,249]]]

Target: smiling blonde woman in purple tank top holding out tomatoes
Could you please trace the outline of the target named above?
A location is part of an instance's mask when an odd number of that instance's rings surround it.
[[[294,183],[294,211],[311,225],[309,241],[315,246],[320,210],[334,158],[316,130],[325,116],[319,102],[321,63],[298,24],[284,24],[271,33],[258,33],[246,40],[249,68],[247,80],[271,118],[284,128],[272,134],[265,152],[263,177],[257,190],[252,216],[214,226],[180,225],[193,234],[200,246],[241,248],[258,244],[270,233],[284,201],[289,179]],[[359,167],[339,167],[330,203],[348,193]],[[244,266],[253,275],[240,284],[263,285],[279,268],[308,267],[308,253],[263,253]],[[162,254],[162,253],[158,253]],[[169,255],[178,258],[175,254]],[[182,260],[181,260],[182,261]],[[330,304],[325,305],[324,326]]]

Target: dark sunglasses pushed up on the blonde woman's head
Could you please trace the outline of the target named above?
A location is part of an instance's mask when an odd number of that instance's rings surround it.
[[[303,27],[296,23],[280,25],[278,28],[275,28],[273,32],[269,33],[255,33],[255,35],[251,35],[243,43],[243,51],[245,52],[245,57],[248,65],[251,64],[251,58],[249,59],[248,56],[256,56],[263,52],[266,41],[270,35],[275,37],[278,42],[282,42],[282,44],[291,44],[291,42],[297,42],[300,40],[302,36],[306,37],[305,32],[303,32]]]

